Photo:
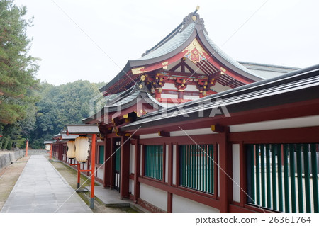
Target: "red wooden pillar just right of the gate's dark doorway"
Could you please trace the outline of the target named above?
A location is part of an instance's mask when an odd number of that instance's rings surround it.
[[[120,176],[120,197],[130,198],[130,140],[129,137],[121,137],[121,176]]]

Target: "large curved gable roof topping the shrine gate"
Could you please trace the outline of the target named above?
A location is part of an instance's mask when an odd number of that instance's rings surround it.
[[[208,33],[204,27],[204,21],[196,11],[194,13],[189,13],[182,23],[172,30],[169,35],[167,35],[163,40],[161,40],[157,45],[146,50],[146,52],[137,60],[128,60],[123,70],[118,73],[106,86],[99,89],[101,92],[108,91],[108,89],[120,81],[122,77],[130,77],[131,69],[136,69],[145,65],[156,64],[164,62],[181,52],[183,52],[186,47],[188,47],[194,39],[198,39],[200,45],[202,45],[206,50],[208,50],[209,58],[220,62],[228,71],[235,72],[242,77],[249,79],[250,81],[262,80],[254,72],[250,71],[242,64],[233,60],[231,57],[225,54],[213,41],[208,37]],[[208,60],[208,59],[207,59]],[[170,62],[169,62],[170,63]],[[223,69],[225,69],[223,68]],[[220,68],[218,68],[220,69]]]

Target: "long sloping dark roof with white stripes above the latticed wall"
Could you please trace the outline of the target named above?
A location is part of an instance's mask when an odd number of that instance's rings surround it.
[[[121,130],[135,130],[145,125],[145,128],[148,128],[169,123],[182,123],[192,118],[200,118],[198,116],[199,111],[203,111],[202,115],[208,117],[207,115],[211,113],[211,109],[216,108],[216,101],[218,100],[223,100],[223,106],[228,109],[230,114],[285,103],[308,101],[319,98],[318,88],[319,64],[206,96],[196,101],[184,103],[183,106],[179,105],[164,109],[164,111],[155,111],[128,125],[124,125]],[[180,113],[180,109],[183,109],[183,114]],[[189,116],[184,117],[184,114]]]

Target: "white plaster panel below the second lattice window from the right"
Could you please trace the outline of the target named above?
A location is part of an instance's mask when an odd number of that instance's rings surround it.
[[[219,210],[211,206],[197,203],[194,200],[173,195],[173,213],[219,213]]]

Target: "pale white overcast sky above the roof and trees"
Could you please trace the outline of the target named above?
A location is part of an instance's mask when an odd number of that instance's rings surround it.
[[[206,30],[237,61],[308,67],[319,63],[319,1],[16,0],[34,16],[30,55],[38,79],[110,81],[196,9]]]

